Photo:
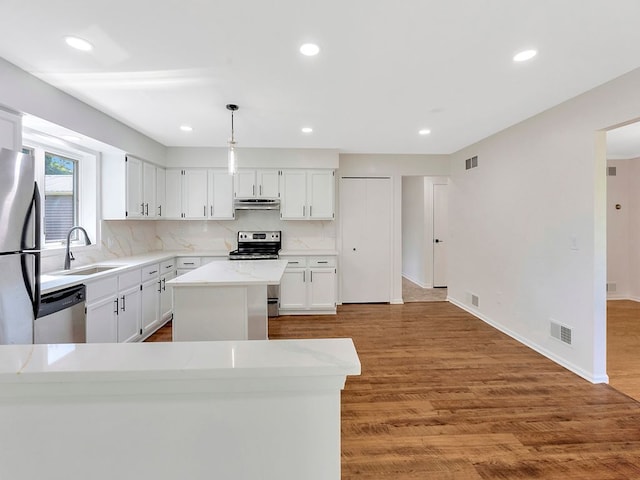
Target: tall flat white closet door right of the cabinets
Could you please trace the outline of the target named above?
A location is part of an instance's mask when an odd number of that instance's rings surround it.
[[[390,178],[343,178],[341,293],[343,303],[391,298]]]

